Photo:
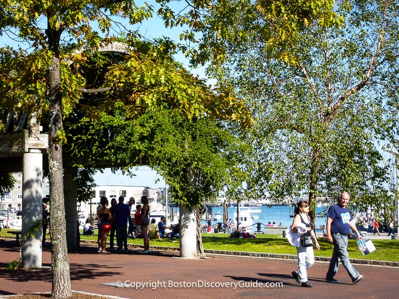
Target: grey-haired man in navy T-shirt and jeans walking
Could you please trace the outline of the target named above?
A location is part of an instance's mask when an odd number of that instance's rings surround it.
[[[339,283],[338,280],[334,279],[338,271],[339,260],[341,260],[342,265],[351,277],[353,285],[363,278],[363,275],[360,275],[349,261],[347,251],[350,228],[356,233],[358,239],[363,239],[356,228],[351,211],[347,207],[349,199],[349,193],[342,192],[338,198],[338,203],[330,207],[327,213],[327,239],[334,244],[333,256],[326,274],[326,282],[329,283]]]

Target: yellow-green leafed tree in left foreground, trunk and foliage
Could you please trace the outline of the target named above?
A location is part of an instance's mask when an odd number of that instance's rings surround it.
[[[73,112],[81,93],[103,94],[102,104],[92,105],[95,107],[92,110],[88,105],[89,119],[95,119],[101,110],[112,111],[115,102],[119,102],[124,104],[130,116],[140,115],[148,107],[169,105],[188,117],[202,113],[217,117],[229,112],[229,118],[250,120],[245,116],[248,114],[242,102],[227,89],[218,94],[208,92],[200,79],[181,68],[173,69],[176,65],[170,60],[161,66],[150,57],[140,60],[133,48],[128,48],[131,59],[126,65],[110,68],[100,90],[86,89],[84,77],[76,72],[79,62],[85,60],[82,47],[95,51],[114,41],[110,30],[115,22],[126,30],[124,34],[130,40],[135,41],[137,34],[124,27],[120,17],[126,24],[134,25],[149,17],[151,11],[147,4],[138,7],[133,1],[123,0],[0,2],[0,34],[7,34],[23,45],[0,50],[0,105],[9,110],[33,111],[48,118],[54,298],[71,295],[62,178],[62,149],[66,141],[63,118]],[[92,25],[99,30],[93,29]],[[166,77],[171,81],[165,83]]]

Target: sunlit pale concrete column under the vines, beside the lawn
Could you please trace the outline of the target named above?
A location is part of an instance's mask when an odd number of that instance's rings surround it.
[[[179,205],[180,210],[180,257],[197,258],[197,221],[194,211],[187,205]]]

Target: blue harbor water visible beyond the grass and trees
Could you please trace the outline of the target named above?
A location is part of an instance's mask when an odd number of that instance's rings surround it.
[[[229,207],[228,208],[228,218],[233,218],[234,217],[234,211],[236,210],[236,207]],[[289,217],[290,215],[290,207],[288,206],[273,206],[271,208],[267,206],[261,206],[261,207],[251,207],[251,209],[261,209],[261,213],[251,213],[252,215],[257,215],[259,216],[259,219],[253,219],[253,223],[260,222],[262,223],[261,225],[261,230],[263,231],[263,227],[267,225],[267,223],[270,221],[271,223],[276,222],[277,225],[280,224],[280,222],[283,223],[284,226],[290,226],[292,224],[292,221],[294,218]],[[316,214],[321,213],[324,211],[324,208],[318,208],[316,207]],[[327,211],[327,210],[326,210]],[[222,207],[213,207],[213,214],[215,213],[220,213],[220,215],[223,216],[223,208]],[[291,207],[291,214],[293,213],[293,208]],[[326,225],[326,217],[316,217],[316,228],[318,228],[320,225]],[[212,221],[212,224],[216,224],[217,222],[222,222],[221,221]],[[202,221],[203,224],[206,223],[206,221]],[[254,226],[256,229],[256,225]]]

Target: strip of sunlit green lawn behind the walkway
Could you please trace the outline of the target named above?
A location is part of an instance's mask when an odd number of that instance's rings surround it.
[[[3,229],[0,233],[1,236],[13,236],[7,233],[7,229]],[[83,240],[97,240],[97,231],[94,236],[80,236]],[[214,236],[214,237],[213,237]],[[246,251],[246,252],[263,252],[275,254],[290,254],[296,255],[296,248],[291,246],[287,239],[278,237],[276,235],[263,235],[259,234],[256,239],[237,239],[228,238],[228,234],[202,234],[202,243],[204,249],[213,250],[227,250],[227,251]],[[47,234],[47,237],[49,235]],[[109,237],[108,237],[109,241]],[[115,238],[116,242],[116,238]],[[128,239],[130,244],[143,245],[143,239]],[[320,240],[320,251],[315,248],[315,256],[331,257],[333,247],[327,241]],[[378,261],[399,261],[399,241],[398,240],[373,240],[377,250],[368,254],[362,255],[356,240],[349,240],[348,252],[352,259],[365,259],[365,260],[378,260]],[[150,240],[150,246],[166,246],[166,247],[179,247],[179,239],[162,239]]]

